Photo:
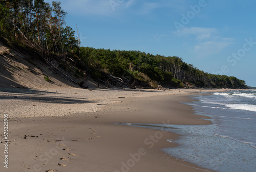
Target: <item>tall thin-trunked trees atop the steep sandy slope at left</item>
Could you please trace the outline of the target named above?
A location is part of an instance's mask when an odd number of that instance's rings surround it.
[[[41,54],[72,52],[78,41],[66,25],[66,15],[60,2],[50,5],[44,0],[0,0],[0,34]]]

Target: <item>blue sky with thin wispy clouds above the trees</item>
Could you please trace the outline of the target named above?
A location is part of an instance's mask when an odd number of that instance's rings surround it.
[[[52,1],[45,0],[50,3]],[[178,56],[256,87],[254,0],[62,0],[81,46]]]

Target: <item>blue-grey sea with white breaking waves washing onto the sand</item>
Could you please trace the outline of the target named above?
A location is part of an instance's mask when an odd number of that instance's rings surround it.
[[[212,125],[144,124],[149,128],[167,128],[181,134],[175,148],[162,151],[209,171],[256,171],[256,90],[232,90],[203,93],[184,103],[197,114],[209,116]],[[133,126],[143,124],[133,124]],[[207,171],[207,170],[203,170]]]

